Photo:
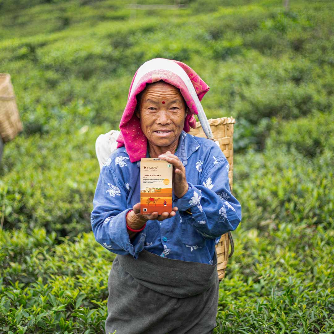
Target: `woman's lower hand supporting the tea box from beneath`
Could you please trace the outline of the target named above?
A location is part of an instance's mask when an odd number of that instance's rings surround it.
[[[158,212],[153,212],[151,214],[141,214],[140,213],[140,202],[136,203],[133,206],[133,211],[129,212],[126,217],[126,222],[129,227],[133,229],[140,229],[144,226],[147,220],[165,220],[167,218],[174,217],[176,215],[176,211],[178,210],[177,206],[172,208],[172,211],[163,212],[162,214],[158,214]]]

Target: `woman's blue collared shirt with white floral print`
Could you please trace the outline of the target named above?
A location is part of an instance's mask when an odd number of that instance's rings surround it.
[[[220,148],[207,138],[182,131],[175,155],[185,167],[189,185],[182,198],[173,193],[173,206],[179,210],[163,221],[148,220],[133,240],[125,215],[140,202],[140,161],[131,163],[122,147],[104,164],[91,223],[95,239],[110,252],[137,259],[146,249],[170,259],[212,264],[221,235],[238,226],[241,205],[230,192],[229,164]]]

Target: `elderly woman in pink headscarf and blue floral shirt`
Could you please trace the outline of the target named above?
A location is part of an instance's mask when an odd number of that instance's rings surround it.
[[[117,256],[108,279],[106,333],[212,333],[215,244],[241,221],[229,165],[207,138],[187,134],[209,90],[186,64],[164,58],[136,72],[118,148],[102,167],[91,215],[96,240]],[[140,159],[173,165],[172,211],[140,213]]]

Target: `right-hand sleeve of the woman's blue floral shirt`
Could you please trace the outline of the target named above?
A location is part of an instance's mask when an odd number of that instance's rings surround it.
[[[173,205],[204,239],[212,239],[235,230],[241,221],[241,205],[230,192],[229,164],[223,153],[204,164],[200,184],[188,182],[188,191],[182,198],[174,197]]]

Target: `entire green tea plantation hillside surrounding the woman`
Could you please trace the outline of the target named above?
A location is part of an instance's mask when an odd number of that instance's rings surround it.
[[[0,333],[104,333],[114,255],[91,232],[95,140],[155,57],[208,83],[208,118],[236,119],[242,221],[214,333],[334,333],[334,2],[129,3],[0,0],[24,127],[0,164]]]

